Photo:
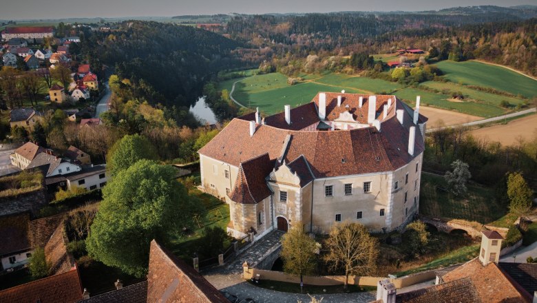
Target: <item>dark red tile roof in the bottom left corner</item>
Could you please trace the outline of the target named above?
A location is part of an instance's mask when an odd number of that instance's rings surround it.
[[[74,303],[82,300],[78,270],[0,291],[0,303]]]

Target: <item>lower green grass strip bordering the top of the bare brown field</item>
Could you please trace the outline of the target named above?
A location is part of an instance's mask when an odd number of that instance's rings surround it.
[[[448,109],[474,116],[494,117],[504,113],[504,109],[496,105],[476,102],[452,102],[448,101],[448,98],[451,98],[451,96],[445,94],[435,94],[434,92],[426,92],[425,90],[419,90],[412,87],[406,87],[402,90],[398,90],[397,92],[394,92],[394,95],[397,96],[397,98],[410,101],[412,104],[415,103],[416,96],[421,96],[422,105]]]

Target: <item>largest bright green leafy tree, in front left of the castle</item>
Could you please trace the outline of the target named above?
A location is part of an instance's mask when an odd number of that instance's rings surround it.
[[[103,202],[86,240],[92,258],[142,278],[149,243],[167,243],[193,216],[203,215],[197,198],[176,180],[173,167],[140,160],[119,171],[103,189]]]

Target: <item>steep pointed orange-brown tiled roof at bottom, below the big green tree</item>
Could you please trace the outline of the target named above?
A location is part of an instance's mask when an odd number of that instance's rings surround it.
[[[149,253],[147,302],[229,303],[191,265],[160,247],[155,240],[151,241]]]

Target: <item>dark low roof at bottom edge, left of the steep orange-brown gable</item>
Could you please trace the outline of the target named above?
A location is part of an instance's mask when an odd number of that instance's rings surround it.
[[[90,294],[91,295],[91,294]],[[138,282],[122,289],[116,289],[101,295],[89,297],[81,303],[110,303],[110,302],[129,302],[129,303],[146,303],[147,302],[147,281]]]

